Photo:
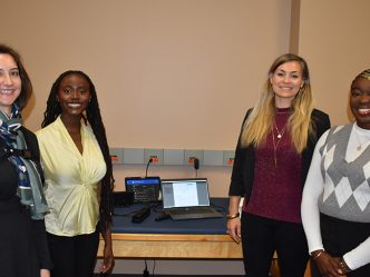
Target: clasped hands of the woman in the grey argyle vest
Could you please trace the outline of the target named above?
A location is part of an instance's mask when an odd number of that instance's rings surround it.
[[[313,254],[314,256],[314,254]],[[332,257],[330,254],[323,251],[318,258],[313,259],[317,264],[319,271],[325,277],[343,277],[347,276],[342,273],[339,257]]]

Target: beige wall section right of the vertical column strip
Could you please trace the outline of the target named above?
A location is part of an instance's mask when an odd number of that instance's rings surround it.
[[[333,125],[349,122],[351,81],[370,68],[368,0],[301,0],[300,55],[306,58],[317,97]]]

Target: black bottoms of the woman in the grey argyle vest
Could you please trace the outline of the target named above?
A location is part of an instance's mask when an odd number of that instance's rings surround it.
[[[341,257],[352,250],[370,236],[370,224],[352,222],[320,214],[322,244],[333,257]],[[360,267],[347,277],[369,277],[370,265]],[[321,277],[314,263],[312,263],[312,277]]]

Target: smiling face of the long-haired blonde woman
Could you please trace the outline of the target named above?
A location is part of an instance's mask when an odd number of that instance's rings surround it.
[[[275,93],[275,106],[278,108],[289,108],[304,83],[300,62],[288,61],[282,63],[270,76],[270,82]]]

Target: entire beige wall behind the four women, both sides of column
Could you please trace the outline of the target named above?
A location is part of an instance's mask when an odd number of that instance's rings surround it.
[[[333,123],[348,122],[349,85],[370,65],[369,8],[368,0],[2,1],[1,41],[19,49],[32,78],[26,121],[32,130],[51,82],[81,69],[96,83],[110,146],[223,150],[234,148],[270,63],[290,47],[309,62],[317,106]],[[115,166],[117,186],[144,171]],[[230,174],[220,167],[198,172],[211,179],[213,196],[226,196]],[[242,271],[240,263],[192,263],[194,270],[184,263],[158,261],[156,273]],[[142,261],[116,267],[142,270]]]

